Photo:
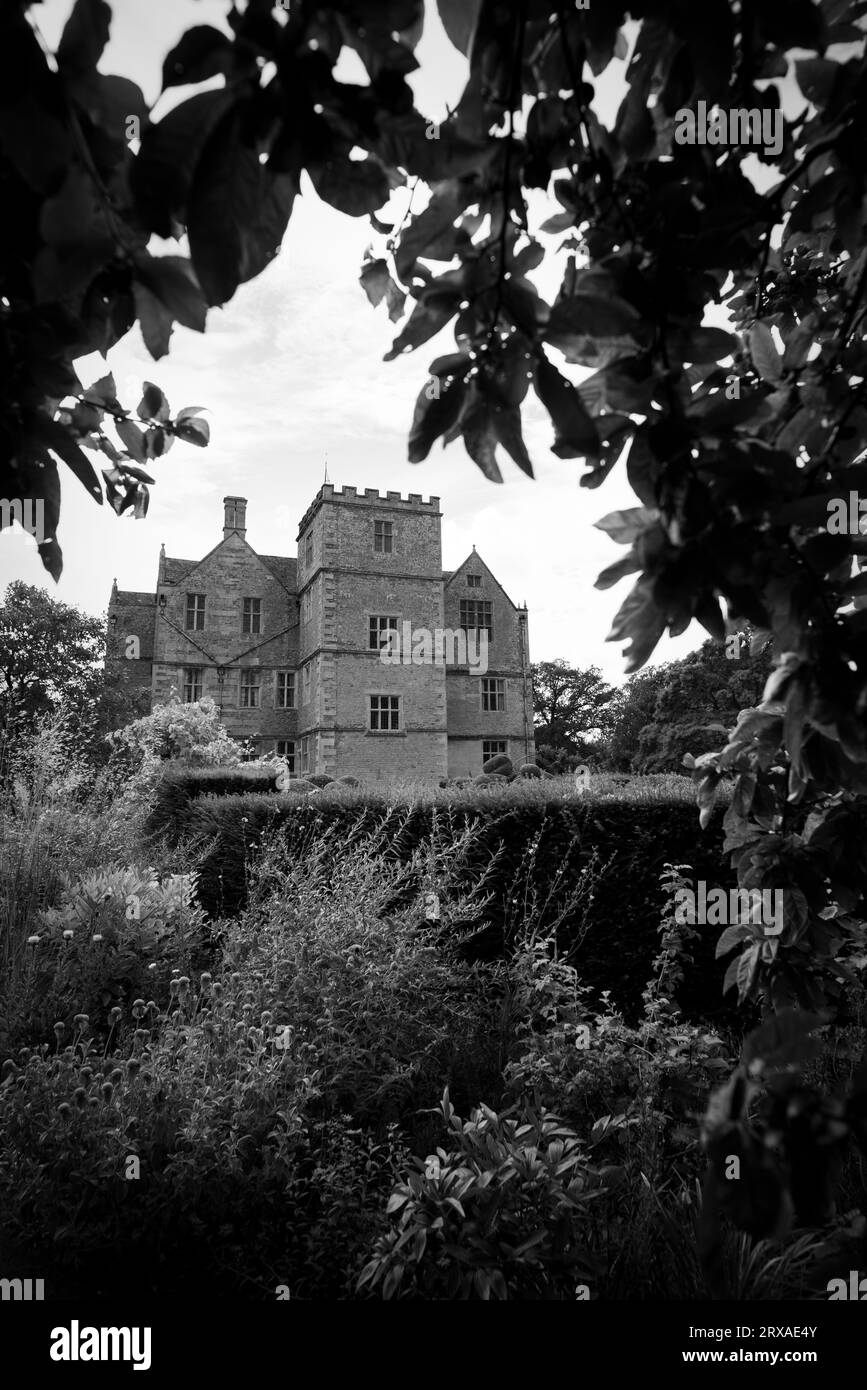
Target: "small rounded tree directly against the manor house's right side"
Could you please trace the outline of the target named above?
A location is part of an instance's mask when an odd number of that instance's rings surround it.
[[[547,770],[565,771],[568,759],[588,756],[607,727],[614,687],[596,666],[579,670],[563,657],[535,662],[532,681],[536,753]]]

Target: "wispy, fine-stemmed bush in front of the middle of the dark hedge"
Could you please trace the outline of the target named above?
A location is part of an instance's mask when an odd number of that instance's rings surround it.
[[[446,1081],[461,1093],[499,1084],[497,969],[460,959],[418,892],[464,848],[447,840],[383,872],[375,834],[347,845],[335,828],[318,833],[289,862],[278,841],[265,845],[225,958],[256,965],[257,1002],[310,1047],[325,1115],[379,1129],[403,1118],[411,1130]],[[454,908],[464,920],[477,910],[468,898]]]

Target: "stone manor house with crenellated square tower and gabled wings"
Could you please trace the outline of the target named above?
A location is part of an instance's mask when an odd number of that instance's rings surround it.
[[[246,498],[224,507],[222,539],[201,560],[161,549],[156,594],[114,582],[106,666],[144,705],[172,688],[182,701],[210,695],[233,738],[299,776],[465,777],[497,752],[534,759],[527,607],[475,549],[442,569],[439,498],[327,482],[297,559],[253,549]],[[470,651],[446,645],[410,664],[404,646],[386,664],[389,634],[410,628],[467,634]]]

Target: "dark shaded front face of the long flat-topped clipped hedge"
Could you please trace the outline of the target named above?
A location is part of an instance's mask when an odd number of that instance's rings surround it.
[[[188,806],[186,830],[214,837],[214,848],[203,865],[199,899],[211,916],[231,916],[243,909],[246,873],[260,835],[278,830],[286,853],[304,853],[306,841],[325,827],[336,826],[340,838],[353,831],[379,830],[383,855],[399,860],[429,838],[434,826],[446,820],[456,833],[468,823],[478,826],[474,853],[467,863],[468,883],[490,870],[495,853],[503,848],[503,862],[493,867],[489,887],[493,899],[485,913],[485,930],[474,935],[475,959],[493,959],[503,951],[507,898],[514,874],[531,840],[538,837],[535,880],[542,894],[553,883],[568,856],[575,878],[596,851],[607,863],[588,913],[589,926],[574,963],[585,984],[610,990],[628,1017],[641,1011],[641,994],[660,947],[659,926],[663,894],[659,876],[666,862],[692,866],[696,878],[720,887],[734,887],[735,876],[722,853],[722,809],[706,831],[697,810],[684,803],[564,803],[563,801],[497,806],[479,798],[475,805],[420,805],[396,809],[385,801],[364,805],[311,802],[289,803],[270,796],[199,796]],[[420,885],[421,891],[421,885]],[[395,903],[399,906],[399,903]],[[393,910],[393,909],[392,909]],[[454,922],[456,930],[464,923]],[[575,941],[582,923],[565,923],[561,948]],[[695,967],[688,970],[679,1002],[688,1016],[724,1020],[734,1016],[722,1005],[721,981],[725,962],[714,962],[717,927],[700,929],[693,942]]]

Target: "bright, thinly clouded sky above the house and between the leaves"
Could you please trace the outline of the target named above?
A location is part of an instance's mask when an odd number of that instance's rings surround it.
[[[115,0],[100,68],[132,78],[156,101],[168,50],[196,24],[225,28],[226,8],[226,0]],[[68,0],[47,0],[32,11],[51,49],[69,10]],[[460,97],[467,64],[431,4],[417,56],[420,72],[410,78],[417,107],[431,120],[442,118]],[[364,81],[354,63],[354,56],[342,58],[338,75]],[[599,79],[596,110],[607,125],[625,92],[624,67],[614,63]],[[154,118],[190,90],[174,89],[160,99]],[[414,353],[383,361],[396,327],[385,306],[370,306],[358,284],[372,228],[367,218],[346,217],[322,203],[306,175],[302,190],[281,254],[228,304],[210,310],[204,335],[176,325],[170,354],[153,361],[135,327],[107,363],[93,354],[76,364],[85,385],[110,368],[128,409],[138,404],[143,381],[164,389],[172,413],[181,406],[206,407],[210,446],[175,441],[167,457],[151,463],[157,482],[149,514],[139,521],[96,506],[61,467],[60,584],[54,587],[35,542],[15,527],[0,535],[0,589],[21,578],[103,613],[114,578],[122,589],[156,588],[161,542],[167,555],[183,559],[213,549],[222,535],[222,498],[229,493],[249,499],[247,539],[256,550],[295,556],[297,523],[324,481],[327,463],[335,486],[439,496],[443,569],[456,569],[475,545],[513,602],[529,606],[532,660],[597,666],[620,684],[621,646],[606,642],[606,635],[634,577],[604,592],[593,588],[599,571],[622,555],[593,523],[636,505],[622,461],[602,488],[579,488],[581,461],[550,452],[553,428],[531,391],[524,432],[535,480],[504,457],[503,485],[488,482],[460,441],[445,450],[436,443],[422,464],[407,463],[414,402],[428,364],[454,350],[452,329]],[[393,195],[399,210],[400,197],[403,190]],[[424,196],[417,195],[414,207],[422,206]],[[388,220],[389,211],[382,215]],[[151,249],[179,250],[168,242]],[[557,267],[543,265],[534,278],[550,300]],[[570,374],[581,381],[589,371]],[[684,656],[704,638],[693,623],[682,637],[663,638],[652,664]]]

